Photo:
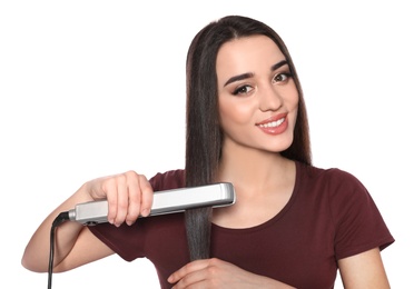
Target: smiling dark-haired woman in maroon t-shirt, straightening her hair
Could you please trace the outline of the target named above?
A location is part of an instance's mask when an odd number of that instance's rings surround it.
[[[234,206],[137,220],[155,190],[221,181]],[[393,237],[355,177],[312,166],[294,63],[254,19],[221,18],[191,42],[185,170],[86,182],[40,225],[22,265],[47,271],[55,217],[98,199],[109,223],[62,223],[53,271],[118,253],[152,261],[161,288],[333,288],[337,269],[346,288],[390,288],[379,251]]]

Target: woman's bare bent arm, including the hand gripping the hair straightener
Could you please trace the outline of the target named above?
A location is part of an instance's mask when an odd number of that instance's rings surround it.
[[[108,200],[110,223],[132,225],[139,215],[148,216],[152,205],[152,188],[145,176],[134,171],[86,182],[39,226],[26,247],[22,266],[36,272],[48,271],[50,230],[56,217],[78,203],[99,199]],[[63,222],[56,230],[53,271],[67,271],[111,253],[114,251],[83,225]]]

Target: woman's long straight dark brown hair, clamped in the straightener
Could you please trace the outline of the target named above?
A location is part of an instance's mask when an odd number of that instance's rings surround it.
[[[285,56],[299,94],[292,146],[282,152],[288,159],[310,165],[310,141],[299,79],[282,38],[267,24],[252,18],[228,16],[203,28],[187,54],[186,186],[213,183],[218,170],[223,133],[218,122],[216,58],[219,48],[236,38],[263,34]],[[186,211],[190,259],[209,258],[211,208]]]

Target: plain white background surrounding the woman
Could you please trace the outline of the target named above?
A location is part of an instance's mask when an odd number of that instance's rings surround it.
[[[413,27],[410,1],[1,1],[1,288],[47,288],[20,259],[85,181],[184,167],[185,59],[225,14],[270,24],[303,83],[314,165],[355,175],[396,242],[393,288],[414,288]],[[339,283],[339,281],[337,282]],[[53,288],[158,288],[117,256],[53,275]],[[341,286],[338,286],[341,288]]]

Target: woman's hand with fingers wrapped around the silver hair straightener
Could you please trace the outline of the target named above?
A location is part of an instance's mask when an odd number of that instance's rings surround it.
[[[93,200],[108,200],[108,221],[117,227],[147,217],[152,207],[152,188],[144,175],[135,171],[95,179],[85,188]]]

